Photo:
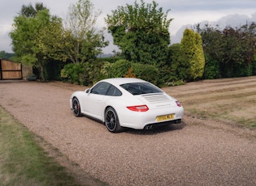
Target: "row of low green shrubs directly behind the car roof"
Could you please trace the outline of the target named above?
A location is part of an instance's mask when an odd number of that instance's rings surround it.
[[[156,66],[119,60],[69,63],[61,70],[63,81],[80,85],[92,85],[103,78],[142,78],[156,85],[162,85],[161,75]]]

